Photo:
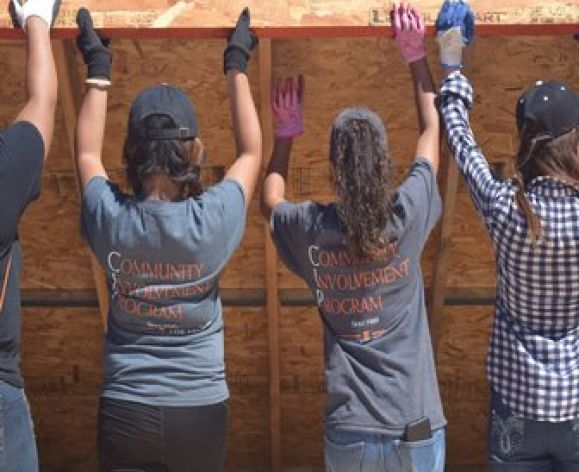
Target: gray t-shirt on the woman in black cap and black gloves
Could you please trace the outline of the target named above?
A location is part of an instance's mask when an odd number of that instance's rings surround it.
[[[102,395],[160,406],[228,397],[218,278],[245,226],[240,185],[181,202],[83,193],[82,231],[105,271],[110,309]]]

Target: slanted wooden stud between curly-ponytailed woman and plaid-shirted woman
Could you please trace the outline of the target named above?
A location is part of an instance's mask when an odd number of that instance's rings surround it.
[[[456,192],[458,189],[458,169],[453,158],[449,155],[446,146],[442,152],[444,190],[442,194],[443,212],[438,229],[438,241],[434,258],[434,272],[432,276],[431,296],[428,306],[428,319],[430,323],[430,336],[436,355],[438,348],[438,336],[444,301],[446,295],[446,278],[449,268],[450,249],[452,243],[452,224],[454,220],[454,208]]]

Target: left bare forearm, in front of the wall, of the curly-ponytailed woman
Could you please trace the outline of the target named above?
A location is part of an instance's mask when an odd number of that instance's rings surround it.
[[[262,213],[266,218],[269,218],[278,203],[285,200],[292,144],[292,138],[276,138],[275,140],[261,194]]]

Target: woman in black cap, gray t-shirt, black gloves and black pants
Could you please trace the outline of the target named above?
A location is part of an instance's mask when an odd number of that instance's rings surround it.
[[[218,278],[239,244],[261,164],[261,132],[245,70],[249,12],[224,54],[238,158],[203,190],[204,153],[187,96],[161,85],[134,101],[124,146],[133,196],[101,161],[111,56],[78,14],[88,66],[76,160],[82,230],[105,270],[110,310],[99,410],[105,471],[217,471],[227,398]]]

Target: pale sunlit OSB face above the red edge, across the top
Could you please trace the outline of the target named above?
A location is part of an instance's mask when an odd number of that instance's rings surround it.
[[[427,21],[440,8],[439,0],[416,0]],[[579,7],[570,0],[472,0],[481,24],[573,23]],[[256,27],[367,27],[387,24],[388,5],[379,0],[64,0],[58,27],[74,28],[76,11],[86,6],[98,26],[113,28],[223,28],[231,27],[239,11],[249,6]],[[374,13],[376,12],[376,13]],[[0,27],[11,25],[0,14]]]

